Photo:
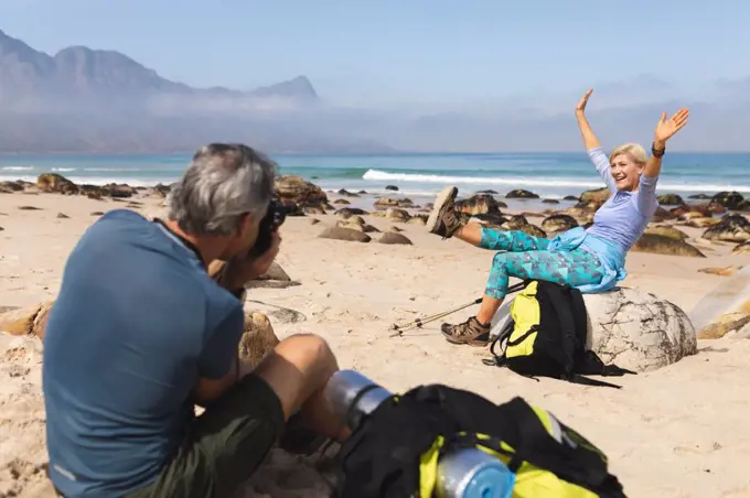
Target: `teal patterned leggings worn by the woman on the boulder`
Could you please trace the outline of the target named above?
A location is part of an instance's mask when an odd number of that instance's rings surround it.
[[[522,280],[545,280],[571,286],[597,284],[602,272],[599,259],[582,249],[549,251],[549,240],[532,237],[517,230],[482,228],[479,247],[497,252],[484,291],[486,295],[503,299],[507,294],[511,277]]]

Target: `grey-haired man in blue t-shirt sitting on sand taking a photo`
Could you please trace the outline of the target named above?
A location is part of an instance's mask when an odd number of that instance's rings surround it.
[[[322,397],[338,370],[323,339],[289,337],[253,371],[237,359],[244,284],[279,251],[275,234],[265,255],[247,256],[274,177],[253,149],[211,144],[173,187],[165,221],[117,209],[81,238],[44,337],[60,494],[228,497],[298,410],[341,439]],[[228,261],[224,286],[206,273],[216,259]]]

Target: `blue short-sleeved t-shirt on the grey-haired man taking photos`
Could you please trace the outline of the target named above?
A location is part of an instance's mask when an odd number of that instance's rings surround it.
[[[228,374],[244,313],[196,253],[118,209],[71,253],[44,337],[50,476],[67,497],[156,480],[193,420],[199,377]]]

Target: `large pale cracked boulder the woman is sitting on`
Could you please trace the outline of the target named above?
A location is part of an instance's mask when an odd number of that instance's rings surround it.
[[[690,320],[668,301],[623,288],[583,299],[590,348],[604,364],[649,371],[697,353]]]

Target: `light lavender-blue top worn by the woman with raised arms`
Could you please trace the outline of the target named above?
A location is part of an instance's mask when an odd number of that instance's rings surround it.
[[[593,226],[589,227],[587,232],[613,243],[624,257],[624,253],[643,235],[658,207],[658,201],[656,201],[658,177],[641,175],[638,191],[619,191],[610,172],[609,159],[601,148],[589,150],[589,156],[612,195],[593,215]]]

